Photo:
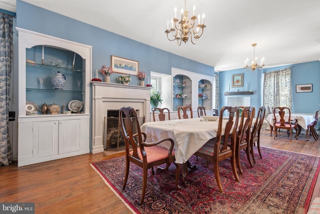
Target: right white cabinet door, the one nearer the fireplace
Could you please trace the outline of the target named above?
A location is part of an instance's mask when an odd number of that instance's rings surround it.
[[[80,120],[59,121],[59,154],[80,150]]]

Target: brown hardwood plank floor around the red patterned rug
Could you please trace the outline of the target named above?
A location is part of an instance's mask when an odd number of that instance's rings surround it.
[[[300,135],[289,142],[281,132],[273,140],[266,130],[260,138],[261,146],[320,156],[320,140],[312,137],[306,141]],[[120,155],[84,154],[22,167],[16,162],[0,166],[0,201],[34,202],[35,213],[131,213],[89,165]],[[314,195],[319,189],[316,185]]]

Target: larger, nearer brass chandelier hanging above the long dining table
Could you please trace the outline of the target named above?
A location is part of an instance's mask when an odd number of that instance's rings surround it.
[[[200,24],[200,15],[194,16],[195,6],[193,6],[193,16],[188,20],[188,11],[186,10],[186,0],[184,0],[184,11],[181,9],[181,20],[176,19],[176,8],[174,8],[174,18],[171,20],[171,29],[169,29],[169,21],[166,21],[166,38],[169,41],[177,40],[178,46],[183,41],[186,43],[191,40],[193,45],[196,44],[203,34],[204,25],[204,13],[202,14],[202,24]],[[195,20],[198,20],[198,24],[195,26]],[[194,29],[195,28],[195,29]],[[171,36],[169,36],[171,32]],[[170,38],[169,38],[170,37]],[[193,39],[192,39],[193,38]]]

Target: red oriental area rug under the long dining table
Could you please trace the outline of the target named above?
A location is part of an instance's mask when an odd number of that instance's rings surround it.
[[[241,151],[243,174],[234,180],[229,160],[220,163],[223,193],[218,191],[212,164],[205,166],[194,156],[197,165],[187,174],[188,186],[175,188],[175,166],[168,171],[149,170],[143,205],[142,169],[130,165],[128,181],[122,190],[125,158],[118,157],[92,163],[105,183],[134,213],[306,213],[315,180],[319,173],[316,156],[261,147],[262,159],[255,153],[251,168]]]

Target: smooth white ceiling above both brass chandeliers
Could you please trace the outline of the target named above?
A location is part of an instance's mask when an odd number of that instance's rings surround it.
[[[164,31],[183,0],[23,0],[152,47],[209,65],[215,71],[242,68],[253,56],[265,67],[320,60],[319,0],[187,0],[189,14],[205,13],[196,45],[177,46]],[[15,0],[0,8],[15,12]],[[13,9],[12,9],[13,8]],[[178,17],[178,16],[177,16]]]

